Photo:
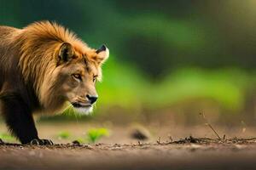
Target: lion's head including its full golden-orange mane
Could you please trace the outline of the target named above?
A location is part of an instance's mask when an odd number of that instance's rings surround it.
[[[89,48],[73,32],[49,21],[36,22],[20,30],[20,69],[32,83],[39,112],[61,111],[69,102],[80,113],[92,111],[98,95],[96,81],[108,48]]]

